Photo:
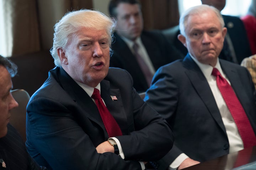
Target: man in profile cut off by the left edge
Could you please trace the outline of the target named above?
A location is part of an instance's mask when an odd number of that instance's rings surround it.
[[[16,73],[17,66],[0,55],[0,169],[46,170],[34,162],[20,134],[9,123],[10,111],[18,107],[11,95],[11,78]]]

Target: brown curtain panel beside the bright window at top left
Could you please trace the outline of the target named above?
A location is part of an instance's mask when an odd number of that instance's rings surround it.
[[[34,0],[3,0],[4,34],[7,56],[40,49]]]

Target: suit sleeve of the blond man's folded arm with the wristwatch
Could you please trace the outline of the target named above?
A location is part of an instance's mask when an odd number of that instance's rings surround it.
[[[133,129],[128,134],[116,138],[121,143],[125,160],[135,159],[144,162],[158,160],[172,147],[174,142],[172,131],[166,120],[138,95],[132,86],[130,74],[125,72],[122,72],[122,79],[125,81],[119,86],[124,108],[127,115],[132,116],[133,119],[129,127]]]

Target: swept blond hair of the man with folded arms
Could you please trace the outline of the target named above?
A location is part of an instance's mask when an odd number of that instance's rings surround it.
[[[115,26],[115,20],[99,11],[82,9],[67,12],[54,26],[53,47],[50,49],[50,53],[54,58],[55,65],[60,66],[57,48],[65,48],[69,37],[78,32],[81,27],[106,30],[109,36],[108,44],[111,46]],[[110,51],[112,50],[110,49]]]

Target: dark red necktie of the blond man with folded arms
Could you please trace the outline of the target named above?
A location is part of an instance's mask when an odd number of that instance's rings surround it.
[[[96,106],[98,108],[98,111],[100,112],[101,119],[107,130],[108,136],[109,137],[122,136],[122,131],[119,125],[117,124],[116,120],[110,114],[107,107],[102,101],[102,98],[100,96],[100,91],[94,88],[94,92],[91,97],[95,100]]]

